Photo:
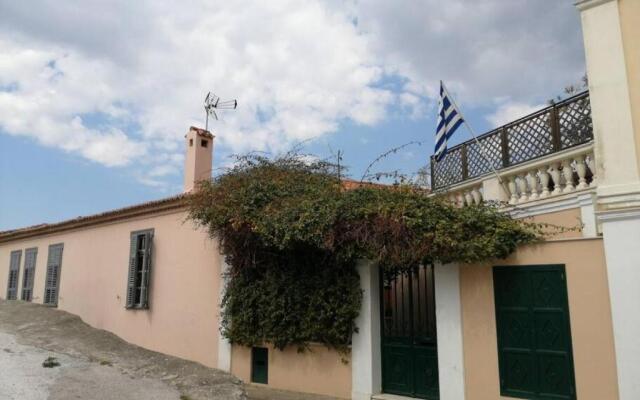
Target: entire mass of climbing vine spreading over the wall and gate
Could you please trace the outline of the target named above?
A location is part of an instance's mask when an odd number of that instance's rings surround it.
[[[222,332],[232,343],[344,351],[362,299],[357,260],[385,271],[478,262],[542,233],[495,205],[455,208],[414,187],[345,183],[338,171],[247,156],[190,197],[190,218],[230,265]]]

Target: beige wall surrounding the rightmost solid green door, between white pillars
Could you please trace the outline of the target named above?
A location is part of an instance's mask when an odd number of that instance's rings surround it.
[[[526,246],[492,265],[565,264],[576,390],[581,400],[618,398],[611,309],[602,240]],[[467,400],[500,396],[491,265],[461,269]]]

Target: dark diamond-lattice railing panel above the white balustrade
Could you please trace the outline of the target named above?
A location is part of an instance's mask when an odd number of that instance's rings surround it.
[[[431,183],[442,190],[492,171],[522,164],[593,140],[589,92],[583,92],[517,121],[451,147],[436,162]],[[481,147],[484,148],[482,153]]]

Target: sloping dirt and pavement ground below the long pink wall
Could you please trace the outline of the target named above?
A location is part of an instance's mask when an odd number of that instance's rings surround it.
[[[44,368],[53,357],[59,366]],[[240,380],[145,350],[80,318],[0,300],[2,400],[244,400]]]

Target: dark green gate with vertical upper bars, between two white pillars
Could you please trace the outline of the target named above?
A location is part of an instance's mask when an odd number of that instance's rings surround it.
[[[433,266],[381,279],[382,390],[437,399]]]

